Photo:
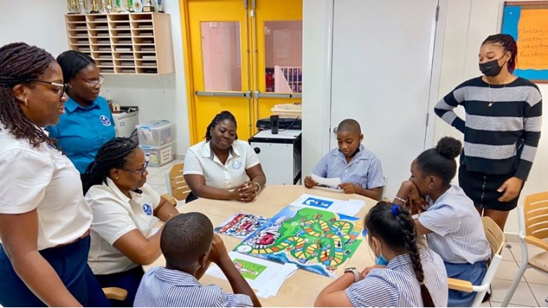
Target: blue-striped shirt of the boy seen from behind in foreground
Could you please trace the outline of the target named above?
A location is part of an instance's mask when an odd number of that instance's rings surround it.
[[[253,302],[220,286],[202,286],[188,273],[155,267],[143,276],[133,307],[253,307]]]

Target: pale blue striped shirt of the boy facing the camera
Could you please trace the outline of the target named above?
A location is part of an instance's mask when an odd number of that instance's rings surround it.
[[[339,148],[332,149],[322,157],[312,173],[322,178],[340,178],[343,183],[351,182],[365,189],[384,186],[381,161],[363,145],[358,147],[358,153],[349,163]]]

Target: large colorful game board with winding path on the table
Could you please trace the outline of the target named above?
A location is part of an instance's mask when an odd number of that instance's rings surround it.
[[[357,217],[287,206],[234,250],[336,277],[360,246],[362,230]]]

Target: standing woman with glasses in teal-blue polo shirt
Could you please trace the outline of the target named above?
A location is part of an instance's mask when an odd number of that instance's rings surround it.
[[[101,145],[115,138],[115,123],[107,101],[99,96],[104,77],[95,61],[79,51],[65,51],[57,62],[63,69],[68,100],[59,123],[46,130],[82,174]]]

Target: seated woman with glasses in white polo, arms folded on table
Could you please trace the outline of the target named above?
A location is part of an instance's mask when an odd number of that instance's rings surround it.
[[[88,264],[101,287],[127,290],[115,307],[132,307],[143,269],[160,255],[159,220],[178,211],[148,184],[143,150],[129,138],[107,141],[83,175],[86,201],[93,210]]]

